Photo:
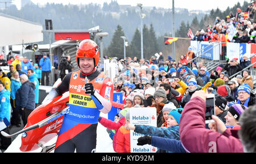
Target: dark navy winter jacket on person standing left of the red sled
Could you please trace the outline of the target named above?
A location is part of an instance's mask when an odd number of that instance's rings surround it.
[[[20,86],[15,94],[16,109],[26,108],[28,110],[35,109],[35,85],[30,81],[26,81]]]

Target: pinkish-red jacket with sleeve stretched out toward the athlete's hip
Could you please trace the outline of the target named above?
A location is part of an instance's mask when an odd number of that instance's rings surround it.
[[[117,152],[117,149],[116,149],[116,146],[117,146],[117,144],[116,144],[117,132],[118,132],[118,129],[122,125],[125,125],[125,117],[120,119],[117,123],[115,123],[112,120],[108,120],[108,119],[106,119],[104,117],[101,117],[101,120],[99,121],[99,123],[101,125],[103,125],[105,128],[115,130],[115,134],[114,134],[114,137],[113,137],[113,149],[114,149],[115,152]]]

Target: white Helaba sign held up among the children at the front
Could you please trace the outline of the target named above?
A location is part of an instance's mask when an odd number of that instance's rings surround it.
[[[156,108],[130,108],[130,124],[156,127]],[[138,138],[144,134],[130,131],[131,153],[155,153],[157,148],[151,145],[139,146]]]

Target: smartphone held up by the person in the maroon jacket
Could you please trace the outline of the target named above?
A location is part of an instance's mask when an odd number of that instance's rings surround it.
[[[208,94],[206,100],[205,124],[214,122],[212,119],[212,115],[215,115],[214,106],[214,94]]]

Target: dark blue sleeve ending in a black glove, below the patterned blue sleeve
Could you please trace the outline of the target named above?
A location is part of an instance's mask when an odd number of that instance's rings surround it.
[[[185,153],[180,140],[152,136],[151,145],[172,153]]]

